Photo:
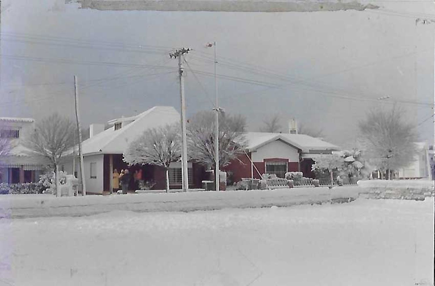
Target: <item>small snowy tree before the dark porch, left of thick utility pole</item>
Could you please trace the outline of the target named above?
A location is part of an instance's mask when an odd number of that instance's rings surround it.
[[[180,135],[179,125],[148,129],[131,142],[124,154],[124,161],[129,164],[151,164],[163,167],[166,192],[169,192],[169,165],[181,158]]]

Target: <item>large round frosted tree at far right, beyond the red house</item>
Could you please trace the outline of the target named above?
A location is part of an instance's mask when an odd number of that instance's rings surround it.
[[[405,121],[404,112],[376,109],[360,122],[361,145],[365,156],[381,173],[407,167],[414,160],[417,135],[413,125]]]

